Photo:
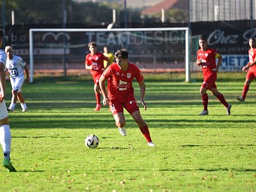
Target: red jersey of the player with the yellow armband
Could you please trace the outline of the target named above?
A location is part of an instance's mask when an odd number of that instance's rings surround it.
[[[197,59],[202,60],[202,68],[204,76],[209,76],[211,74],[216,74],[216,72],[212,72],[213,68],[216,68],[216,56],[220,55],[214,49],[207,48],[206,51],[202,51],[199,49],[197,51]]]

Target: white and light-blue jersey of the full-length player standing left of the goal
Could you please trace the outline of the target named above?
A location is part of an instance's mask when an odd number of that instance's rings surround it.
[[[9,58],[6,60],[6,68],[8,68],[10,77],[12,77],[12,79],[24,79],[25,65],[26,62],[16,55],[13,55],[12,60],[9,60]]]

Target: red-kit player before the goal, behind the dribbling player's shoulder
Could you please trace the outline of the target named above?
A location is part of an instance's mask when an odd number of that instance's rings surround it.
[[[109,66],[109,59],[104,56],[104,54],[97,52],[97,44],[95,42],[91,42],[88,44],[90,53],[86,55],[85,58],[85,69],[90,69],[91,75],[94,81],[94,92],[96,97],[96,108],[95,111],[100,110],[100,87],[99,87],[99,79],[102,73],[104,72],[104,60],[108,61],[106,68]]]

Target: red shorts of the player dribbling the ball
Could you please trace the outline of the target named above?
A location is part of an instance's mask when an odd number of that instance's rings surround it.
[[[132,114],[134,111],[138,111],[139,106],[134,96],[124,97],[122,99],[113,99],[109,101],[109,106],[111,107],[112,114],[123,112],[124,108],[128,113]]]

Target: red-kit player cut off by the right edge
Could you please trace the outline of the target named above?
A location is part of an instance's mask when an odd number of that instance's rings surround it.
[[[256,43],[255,39],[250,38],[249,40],[250,49],[248,51],[249,62],[242,68],[244,72],[247,72],[246,79],[244,81],[243,95],[236,97],[239,101],[244,101],[246,93],[249,90],[250,83],[256,78]]]

